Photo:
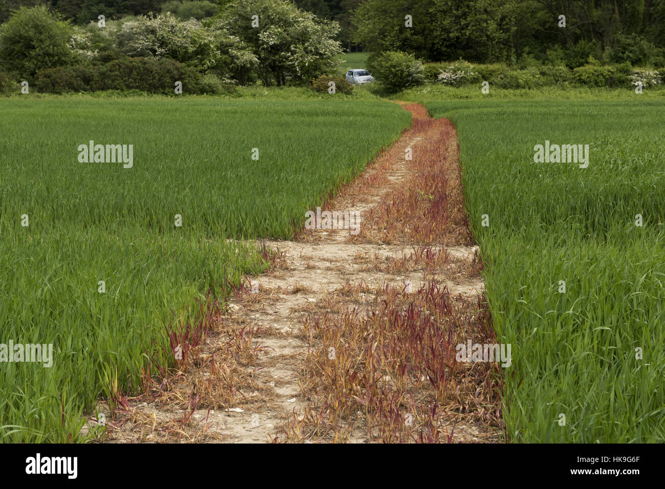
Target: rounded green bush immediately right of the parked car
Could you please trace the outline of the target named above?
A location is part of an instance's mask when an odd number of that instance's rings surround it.
[[[390,93],[422,85],[425,82],[422,62],[413,54],[406,52],[386,51],[369,56],[367,69]]]

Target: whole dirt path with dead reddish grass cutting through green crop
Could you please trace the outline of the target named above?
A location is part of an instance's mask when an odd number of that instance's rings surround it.
[[[324,209],[357,211],[360,232],[310,229],[296,241],[264,242],[276,251],[270,270],[248,279],[247,287],[231,298],[196,357],[178,375],[119,403],[108,440],[391,441],[390,433],[406,436],[416,426],[422,432],[428,427],[426,440],[438,440],[440,433],[450,441],[499,439],[499,408],[489,370],[459,367],[450,360],[450,351],[447,356],[432,353],[427,360],[445,357],[441,364],[450,370],[441,373],[442,385],[434,374],[418,373],[405,387],[394,378],[397,374],[391,377],[386,371],[378,375],[378,383],[362,385],[379,397],[400,393],[397,404],[412,406],[410,413],[417,418],[415,424],[407,423],[408,433],[382,425],[388,423],[380,421],[384,401],[372,401],[376,412],[365,402],[365,415],[350,415],[360,406],[353,399],[360,399],[362,389],[354,385],[358,392],[352,399],[341,387],[349,372],[362,371],[358,363],[367,345],[364,337],[339,336],[338,327],[348,322],[350,329],[365,328],[364,334],[372,336],[371,328],[382,326],[371,318],[382,307],[385,316],[389,303],[394,310],[416,304],[429,312],[431,304],[419,301],[436,290],[448,301],[444,310],[454,310],[450,324],[458,325],[449,340],[489,334],[478,311],[481,264],[466,229],[454,128],[446,120],[430,119],[422,106],[403,105],[414,115],[412,127]],[[412,159],[406,156],[409,151]],[[432,165],[428,158],[444,163]],[[432,173],[435,166],[438,173]],[[321,326],[325,324],[332,329]],[[335,333],[328,336],[329,331]],[[412,353],[405,355],[408,361]],[[327,380],[327,367],[317,361],[330,359],[334,362],[325,365],[334,363],[335,372],[348,360],[346,373]],[[373,368],[366,367],[365,374]],[[343,408],[331,411],[336,395],[348,399]],[[424,414],[427,403],[436,404],[436,416]]]

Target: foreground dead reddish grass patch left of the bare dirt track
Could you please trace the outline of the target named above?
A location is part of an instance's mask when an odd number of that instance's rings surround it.
[[[265,252],[275,261],[273,252]],[[257,300],[249,284],[235,291],[237,298]],[[194,413],[214,409],[248,408],[269,399],[269,390],[257,382],[251,367],[265,346],[258,337],[262,328],[224,322],[222,312],[208,293],[195,311],[174,314],[166,326],[170,340],[168,355],[175,361],[166,369],[153,363],[142,371],[142,393],[127,397],[112,391],[106,400],[108,421],[103,441],[114,442],[205,442],[220,440],[208,433],[205,420]],[[215,340],[211,337],[215,336]],[[253,394],[253,395],[250,395]],[[161,413],[151,416],[140,405],[150,405]],[[164,417],[164,413],[172,413]],[[98,421],[98,420],[95,420]]]

